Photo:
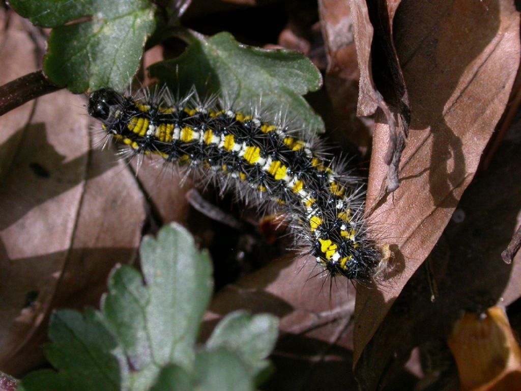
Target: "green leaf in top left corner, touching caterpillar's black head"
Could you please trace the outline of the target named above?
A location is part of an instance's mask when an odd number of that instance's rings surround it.
[[[53,27],[44,71],[53,83],[75,93],[107,85],[118,90],[126,87],[156,27],[156,8],[145,0],[9,3],[35,25]]]

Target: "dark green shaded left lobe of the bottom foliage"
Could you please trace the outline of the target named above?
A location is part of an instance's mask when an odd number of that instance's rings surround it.
[[[49,344],[45,353],[59,372],[36,371],[23,378],[26,391],[119,391],[120,376],[111,350],[116,341],[92,309],[82,316],[76,311],[55,312],[49,324]]]

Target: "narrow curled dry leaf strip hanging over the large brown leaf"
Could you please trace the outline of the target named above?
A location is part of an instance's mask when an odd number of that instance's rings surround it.
[[[381,156],[388,172],[381,192],[386,188],[392,192],[399,187],[399,163],[411,119],[410,101],[393,37],[393,18],[399,4],[400,1],[350,2],[360,69],[357,114],[375,114],[380,108],[389,125],[387,151]],[[373,72],[375,68],[378,71]],[[395,115],[400,118],[398,124]]]

